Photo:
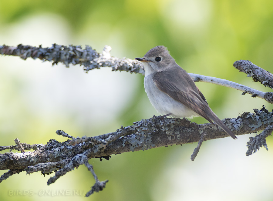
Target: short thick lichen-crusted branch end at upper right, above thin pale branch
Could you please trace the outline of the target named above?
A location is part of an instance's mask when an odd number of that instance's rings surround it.
[[[255,82],[261,82],[265,87],[273,89],[273,75],[248,60],[234,62],[233,66],[241,72],[248,74]]]

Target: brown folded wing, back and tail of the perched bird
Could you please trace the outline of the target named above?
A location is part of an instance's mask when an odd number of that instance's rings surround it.
[[[165,92],[174,100],[181,102],[209,122],[216,122],[233,139],[237,139],[234,133],[217,117],[208,106],[204,95],[200,92],[190,75],[177,65],[177,68],[168,71],[157,72],[153,75],[153,82],[162,92]]]

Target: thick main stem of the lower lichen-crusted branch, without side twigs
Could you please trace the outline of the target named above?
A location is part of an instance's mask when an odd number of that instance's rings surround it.
[[[273,124],[273,112],[268,112],[264,108],[254,109],[254,113],[245,112],[238,118],[225,119],[224,122],[237,135],[244,135],[264,130],[268,125]],[[121,131],[122,136],[120,136]],[[199,141],[203,132],[206,132],[204,141],[228,136],[221,128],[211,123],[198,125],[186,119],[176,118],[165,118],[164,122],[156,118],[143,119],[134,122],[132,126],[118,129],[110,135],[84,136],[77,143],[71,139],[66,142],[50,140],[33,152],[6,152],[0,155],[0,169],[28,168],[40,163],[72,159],[76,154],[81,153],[90,159],[161,146],[193,143]],[[105,139],[116,135],[120,137],[113,137],[113,141],[104,144]],[[97,141],[102,141],[102,143]],[[57,163],[55,166],[62,166],[62,164],[66,162]]]

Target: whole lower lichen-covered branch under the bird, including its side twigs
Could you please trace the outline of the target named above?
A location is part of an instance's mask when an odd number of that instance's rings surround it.
[[[254,113],[245,112],[237,118],[224,119],[224,123],[237,135],[257,132],[266,128],[269,131],[265,130],[264,132],[268,135],[273,128],[270,126],[273,124],[273,112],[268,112],[265,108],[254,109]],[[211,125],[211,123],[197,125],[187,119],[176,118],[165,118],[164,121],[159,118],[142,119],[139,122],[134,122],[132,126],[121,127],[116,132],[95,137],[75,138],[61,130],[56,133],[70,139],[66,142],[57,142],[51,139],[46,145],[39,144],[39,146],[26,146],[25,143],[20,143],[17,140],[18,145],[9,147],[9,149],[19,149],[18,147],[21,147],[20,149],[23,147],[36,149],[32,152],[0,154],[0,169],[9,169],[0,177],[0,182],[22,171],[26,171],[28,174],[55,172],[55,175],[48,180],[48,185],[50,185],[75,167],[85,165],[95,179],[95,184],[86,193],[86,196],[89,196],[103,190],[108,182],[108,180],[99,181],[93,166],[88,163],[91,158],[109,160],[112,154],[199,141],[191,156],[191,159],[194,159],[203,141],[227,137],[226,132],[217,125]],[[264,138],[255,139],[254,146],[256,148],[257,144],[266,146],[265,141],[259,141]]]

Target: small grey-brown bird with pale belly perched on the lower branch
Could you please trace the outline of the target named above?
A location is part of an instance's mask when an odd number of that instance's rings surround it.
[[[220,126],[229,136],[234,133],[217,117],[209,107],[204,95],[190,75],[182,69],[165,46],[150,49],[142,62],[145,77],[144,89],[153,107],[162,117],[192,118],[201,116]]]

